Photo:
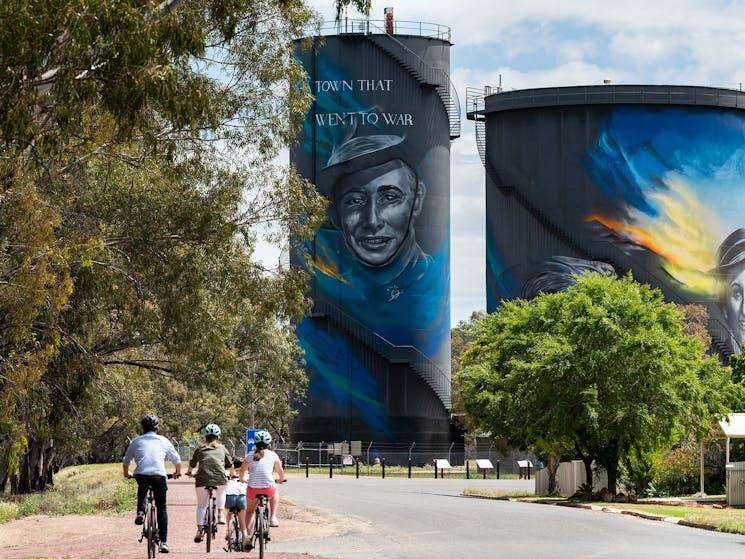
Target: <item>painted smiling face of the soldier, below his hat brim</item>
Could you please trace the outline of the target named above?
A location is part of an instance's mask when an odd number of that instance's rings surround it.
[[[343,177],[334,188],[334,206],[354,257],[377,268],[408,253],[422,196],[416,174],[400,159]]]

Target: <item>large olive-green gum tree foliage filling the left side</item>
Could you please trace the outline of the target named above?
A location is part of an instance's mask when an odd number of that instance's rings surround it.
[[[286,430],[306,279],[255,251],[324,213],[273,163],[310,100],[291,53],[312,19],[282,0],[0,7],[0,489],[118,458],[161,405],[183,428],[172,397],[245,421],[247,361]]]

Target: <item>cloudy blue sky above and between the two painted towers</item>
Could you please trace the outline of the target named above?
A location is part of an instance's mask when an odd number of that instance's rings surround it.
[[[333,20],[333,0],[308,0]],[[373,0],[371,19],[449,26],[451,78],[466,87],[676,84],[740,89],[745,1]],[[349,18],[361,17],[349,10]],[[473,123],[451,149],[452,324],[484,309],[484,169]]]

